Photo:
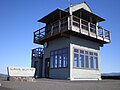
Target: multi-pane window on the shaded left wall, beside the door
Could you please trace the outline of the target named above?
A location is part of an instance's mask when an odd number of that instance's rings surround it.
[[[68,48],[63,48],[50,53],[50,67],[63,68],[68,66]]]

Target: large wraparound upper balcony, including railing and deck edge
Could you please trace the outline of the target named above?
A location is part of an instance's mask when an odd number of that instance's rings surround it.
[[[110,42],[110,31],[97,23],[94,24],[77,16],[68,15],[35,31],[34,43],[44,44],[61,33],[67,32],[76,33],[80,37],[86,37],[96,42],[100,41],[101,44]]]

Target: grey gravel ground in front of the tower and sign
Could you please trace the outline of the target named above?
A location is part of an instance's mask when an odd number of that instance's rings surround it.
[[[0,90],[120,90],[120,80],[69,81],[37,79],[34,82],[0,81]]]

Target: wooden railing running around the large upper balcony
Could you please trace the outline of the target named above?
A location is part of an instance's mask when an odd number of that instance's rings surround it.
[[[71,16],[73,17],[73,18],[71,18],[71,22],[73,24],[71,24],[69,26],[66,23],[71,23],[70,21],[68,21],[68,17],[71,17]],[[81,28],[81,30],[87,30],[89,35],[90,35],[90,33],[91,33],[91,35],[96,35],[96,38],[101,37],[101,38],[103,38],[103,40],[104,39],[110,40],[110,31],[102,28],[101,26],[97,26],[96,24],[93,24],[91,22],[88,22],[82,18],[73,16],[73,15],[65,16],[65,17],[61,18],[60,20],[57,20],[57,21],[55,21],[49,25],[46,25],[45,27],[35,31],[34,32],[34,40],[36,40],[36,42],[37,42],[39,39],[43,39],[46,36],[49,37],[49,34],[51,36],[51,35],[54,35],[54,32],[55,32],[55,34],[59,33],[59,32],[61,32],[61,29],[64,29],[63,27],[66,27],[66,26],[67,26],[67,28],[76,26],[78,28]],[[66,28],[66,30],[68,30],[67,28]],[[56,32],[57,30],[58,30],[58,32]],[[50,32],[50,33],[48,34],[48,32]]]

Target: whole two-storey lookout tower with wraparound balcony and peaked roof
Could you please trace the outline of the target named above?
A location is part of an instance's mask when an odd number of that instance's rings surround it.
[[[110,32],[99,26],[105,19],[85,3],[56,9],[38,22],[31,66],[36,76],[70,80],[101,80],[100,47],[110,43]]]

